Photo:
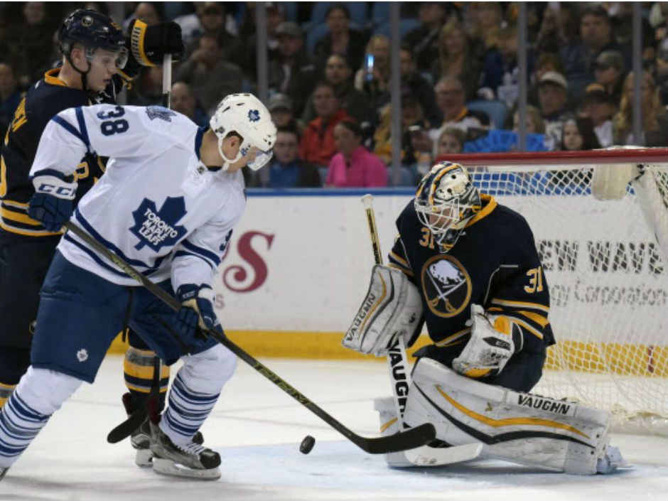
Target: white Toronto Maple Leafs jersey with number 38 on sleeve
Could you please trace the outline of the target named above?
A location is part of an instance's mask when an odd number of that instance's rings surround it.
[[[70,221],[151,279],[210,284],[246,204],[242,174],[200,162],[205,129],[163,107],[99,104],[66,109],[46,126],[31,168],[75,176],[91,151],[107,171]],[[136,286],[112,262],[66,233],[61,254],[114,284]]]

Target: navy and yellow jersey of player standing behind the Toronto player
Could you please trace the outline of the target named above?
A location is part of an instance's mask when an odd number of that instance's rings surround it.
[[[90,92],[68,87],[58,78],[59,68],[49,70],[37,82],[16,109],[9,125],[1,151],[0,171],[0,244],[25,241],[26,238],[58,235],[28,217],[28,201],[35,193],[28,173],[33,165],[37,146],[49,120],[64,109],[88,106],[97,102],[114,102],[114,89],[122,81],[114,77],[107,92],[95,96]],[[78,183],[75,203],[92,187],[96,178],[102,176],[104,162],[92,153],[81,159],[75,173]]]

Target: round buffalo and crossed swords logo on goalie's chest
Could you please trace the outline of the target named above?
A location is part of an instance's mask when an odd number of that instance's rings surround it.
[[[458,315],[471,298],[471,279],[451,256],[434,256],[422,268],[422,290],[427,306],[439,317]]]

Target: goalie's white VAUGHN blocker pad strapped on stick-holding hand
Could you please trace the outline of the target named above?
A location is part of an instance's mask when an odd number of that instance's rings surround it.
[[[341,344],[351,350],[384,357],[399,337],[406,346],[412,345],[422,323],[419,289],[402,271],[376,264],[367,296]]]

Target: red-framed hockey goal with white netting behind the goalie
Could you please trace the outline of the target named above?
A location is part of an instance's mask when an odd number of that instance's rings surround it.
[[[534,232],[557,344],[533,392],[608,409],[614,431],[668,436],[668,149],[441,159]]]

